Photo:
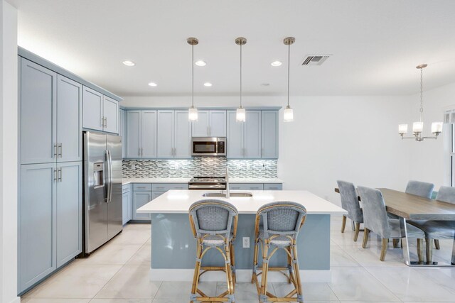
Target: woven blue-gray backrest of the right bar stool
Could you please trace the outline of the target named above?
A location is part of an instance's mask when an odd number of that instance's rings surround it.
[[[256,214],[256,227],[262,218],[264,237],[289,235],[297,238],[306,218],[306,209],[299,203],[279,201],[263,205]]]

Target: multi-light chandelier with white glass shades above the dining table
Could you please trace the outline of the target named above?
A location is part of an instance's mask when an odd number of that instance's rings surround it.
[[[427,67],[427,64],[417,65],[416,68],[420,70],[420,120],[412,123],[412,135],[414,137],[405,137],[407,133],[407,124],[400,124],[398,126],[398,133],[402,139],[415,139],[415,141],[422,142],[424,139],[437,139],[439,134],[442,133],[442,122],[432,123],[432,134],[434,137],[422,137],[422,131],[424,130],[424,77],[423,69]]]

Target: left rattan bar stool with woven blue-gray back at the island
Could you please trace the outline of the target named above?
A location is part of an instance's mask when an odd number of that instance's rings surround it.
[[[235,302],[235,258],[233,242],[237,234],[237,209],[232,204],[222,200],[205,199],[193,203],[188,212],[191,231],[193,231],[193,236],[198,241],[190,302]],[[223,256],[225,264],[220,267],[201,266],[205,253],[213,248]],[[228,290],[218,297],[208,297],[198,289],[200,276],[205,272],[213,270],[222,270],[226,273]]]

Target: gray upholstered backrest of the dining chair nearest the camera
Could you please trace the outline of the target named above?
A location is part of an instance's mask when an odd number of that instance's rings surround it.
[[[363,202],[363,226],[382,238],[390,238],[392,231],[380,190],[363,186],[357,190]]]

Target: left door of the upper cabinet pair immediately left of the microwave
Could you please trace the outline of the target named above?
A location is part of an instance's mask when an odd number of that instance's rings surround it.
[[[158,111],[158,129],[156,132],[156,155],[158,158],[173,158],[173,127],[174,111]]]

